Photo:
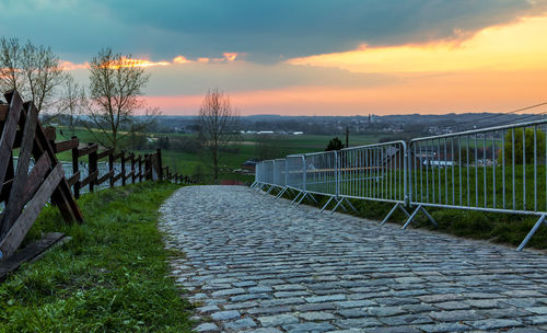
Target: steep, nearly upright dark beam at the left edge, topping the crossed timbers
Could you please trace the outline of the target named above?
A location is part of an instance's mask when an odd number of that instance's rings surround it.
[[[3,185],[5,171],[8,170],[8,164],[11,162],[11,150],[15,140],[19,118],[21,117],[21,107],[23,106],[23,101],[16,91],[7,93],[5,100],[10,103],[10,110],[2,128],[2,136],[0,137],[0,186]]]

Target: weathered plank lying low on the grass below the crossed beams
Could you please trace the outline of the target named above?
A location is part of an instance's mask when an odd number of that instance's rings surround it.
[[[44,236],[40,240],[31,243],[28,246],[2,261],[0,263],[0,282],[3,282],[10,273],[18,269],[22,264],[40,256],[45,251],[50,249],[63,238],[65,234],[61,232],[46,233],[46,236]]]

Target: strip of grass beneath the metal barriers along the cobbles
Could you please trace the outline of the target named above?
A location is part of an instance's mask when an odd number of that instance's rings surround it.
[[[283,195],[283,197],[292,199],[290,194],[286,194]],[[328,197],[316,196],[316,199],[319,204],[314,204],[314,206],[323,207]],[[352,199],[351,203],[358,210],[358,214],[351,211],[352,215],[379,221],[383,220],[394,206],[394,204],[370,200]],[[307,200],[306,204],[311,205],[311,203]],[[331,208],[333,204],[330,204],[329,206],[329,209]],[[537,216],[524,216],[514,214],[498,214],[441,208],[427,209],[437,220],[439,227],[432,226],[427,217],[424,217],[423,214],[419,213],[416,216],[410,228],[426,228],[455,234],[458,237],[489,240],[491,242],[509,244],[511,246],[517,246],[524,240],[526,234],[529,232],[529,230],[538,219]],[[338,211],[341,210],[338,209]],[[389,222],[394,223],[403,225],[405,221],[406,216],[398,209],[389,218]],[[545,226],[542,226],[537,230],[535,236],[528,242],[527,248],[547,249],[547,228]]]

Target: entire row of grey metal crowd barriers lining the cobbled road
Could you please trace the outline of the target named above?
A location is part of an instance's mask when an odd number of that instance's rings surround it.
[[[441,136],[293,154],[257,164],[252,187],[295,193],[292,204],[327,196],[354,210],[348,199],[392,203],[382,225],[400,209],[406,229],[427,207],[538,216],[521,251],[547,217],[547,120]],[[407,208],[412,208],[409,214]]]

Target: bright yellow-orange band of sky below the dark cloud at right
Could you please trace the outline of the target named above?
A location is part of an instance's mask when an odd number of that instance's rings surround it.
[[[356,50],[294,58],[300,66],[337,67],[352,72],[446,72],[547,69],[547,16],[485,28],[457,43],[360,46]]]

